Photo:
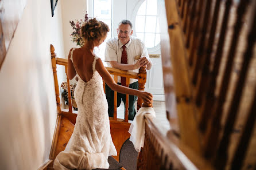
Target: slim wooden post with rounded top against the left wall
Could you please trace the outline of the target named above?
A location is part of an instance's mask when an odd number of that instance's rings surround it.
[[[51,58],[52,58],[52,71],[53,71],[53,78],[54,78],[54,84],[55,84],[55,94],[56,94],[56,102],[57,102],[57,112],[58,114],[61,114],[61,108],[60,108],[60,92],[59,92],[59,84],[57,79],[57,70],[56,70],[56,54],[55,54],[55,48],[53,45],[51,45]]]

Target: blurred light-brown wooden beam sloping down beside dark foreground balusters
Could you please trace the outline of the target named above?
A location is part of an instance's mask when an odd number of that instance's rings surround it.
[[[166,18],[168,18],[167,22],[169,27],[169,34],[165,36],[169,37],[170,49],[172,49],[170,50],[170,55],[172,56],[170,59],[173,68],[174,90],[176,93],[176,107],[179,113],[181,141],[193,148],[195,152],[200,155],[199,132],[197,131],[197,123],[195,120],[196,108],[192,103],[192,85],[190,84],[190,76],[188,72],[187,51],[185,49],[183,38],[181,38],[183,37],[183,31],[179,22],[180,18],[177,11],[176,1],[165,1],[165,6],[168,6],[168,8],[166,7],[166,9],[162,10],[166,10]],[[169,42],[161,41],[161,45],[166,43]]]

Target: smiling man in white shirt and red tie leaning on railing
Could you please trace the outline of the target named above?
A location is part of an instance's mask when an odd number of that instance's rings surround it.
[[[107,41],[105,51],[105,61],[108,66],[121,70],[130,70],[138,73],[141,66],[151,69],[152,61],[149,58],[148,51],[144,43],[133,35],[133,25],[129,20],[122,20],[117,29],[118,37]],[[138,60],[136,56],[141,56]],[[118,77],[118,84],[126,85],[125,77]],[[138,80],[131,78],[129,88],[138,89]],[[108,115],[113,117],[114,113],[114,92],[106,85],[106,97],[108,102]],[[117,106],[121,104],[121,99],[125,103],[125,94],[118,93]],[[137,96],[129,95],[129,120],[133,120],[136,111],[134,102]],[[126,107],[126,106],[125,106]]]

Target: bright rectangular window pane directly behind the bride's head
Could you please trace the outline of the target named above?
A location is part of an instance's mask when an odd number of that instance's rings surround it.
[[[102,60],[105,59],[104,53],[106,48],[107,39],[111,38],[111,23],[112,23],[112,1],[111,0],[94,0],[94,17],[99,19],[100,21],[106,23],[110,29],[107,34],[106,40],[99,46],[99,48],[94,48],[94,53],[100,57]]]

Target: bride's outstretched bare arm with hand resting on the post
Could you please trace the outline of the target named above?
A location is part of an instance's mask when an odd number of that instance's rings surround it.
[[[152,94],[116,84],[113,78],[111,77],[110,73],[108,73],[107,69],[104,67],[102,60],[100,60],[100,58],[96,62],[96,70],[112,90],[123,94],[130,94],[133,96],[141,97],[145,102],[152,102]]]

